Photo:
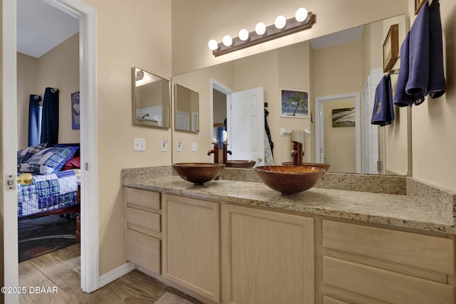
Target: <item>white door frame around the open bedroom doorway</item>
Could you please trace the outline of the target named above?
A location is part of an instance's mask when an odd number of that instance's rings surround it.
[[[81,99],[81,288],[85,292],[92,292],[99,288],[99,242],[98,242],[98,127],[97,127],[97,48],[96,48],[96,10],[80,0],[42,0],[56,9],[69,14],[79,20],[79,71]],[[11,14],[14,12],[14,14]],[[16,117],[17,80],[16,80],[16,0],[3,1],[3,100],[10,100],[14,105],[9,108],[9,113]],[[7,24],[7,26],[6,26]],[[5,87],[5,83],[8,86]],[[8,88],[6,90],[6,88]],[[14,90],[14,92],[13,92]],[[14,112],[14,113],[13,113]],[[17,124],[17,120],[16,120]],[[16,130],[16,127],[14,128]],[[15,132],[17,133],[17,131]],[[17,134],[15,136],[17,140]],[[16,142],[15,140],[15,142]],[[14,145],[16,150],[17,144]],[[10,151],[7,151],[8,154]],[[14,157],[16,154],[13,153]],[[11,157],[13,156],[11,155]],[[8,156],[10,157],[10,156]],[[16,159],[14,160],[16,163]],[[14,174],[16,175],[16,174]],[[16,194],[17,205],[17,194]],[[4,219],[16,218],[17,210],[5,210]],[[10,225],[10,223],[4,223]],[[9,227],[9,226],[8,226]],[[11,227],[9,227],[11,228]],[[14,229],[14,227],[13,227]],[[11,230],[9,230],[11,233]],[[12,241],[8,239],[6,241]],[[17,263],[17,225],[16,245],[4,243],[4,246],[16,248],[14,261],[4,260],[6,267],[11,268],[13,276],[11,286],[17,286],[19,281]],[[8,257],[11,257],[10,252]],[[16,270],[16,276],[14,275]],[[6,277],[6,271],[5,271]],[[11,282],[11,281],[10,281]],[[6,283],[6,282],[5,282]],[[18,297],[11,298],[12,303],[17,303]]]

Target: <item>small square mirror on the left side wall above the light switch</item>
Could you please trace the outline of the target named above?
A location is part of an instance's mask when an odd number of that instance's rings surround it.
[[[170,128],[170,80],[133,68],[133,122]]]

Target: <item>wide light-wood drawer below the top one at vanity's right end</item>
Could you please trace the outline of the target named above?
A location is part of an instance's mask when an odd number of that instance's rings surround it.
[[[393,304],[453,303],[454,291],[450,285],[328,256],[323,256],[323,283],[364,295],[368,298],[364,298],[362,303],[366,304],[378,301]],[[335,293],[330,296],[337,298]]]

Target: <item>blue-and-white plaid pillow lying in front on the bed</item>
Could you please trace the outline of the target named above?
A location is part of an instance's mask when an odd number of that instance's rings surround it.
[[[21,164],[20,172],[32,174],[51,174],[62,169],[63,164],[71,159],[78,147],[46,148],[33,154],[27,162]]]

